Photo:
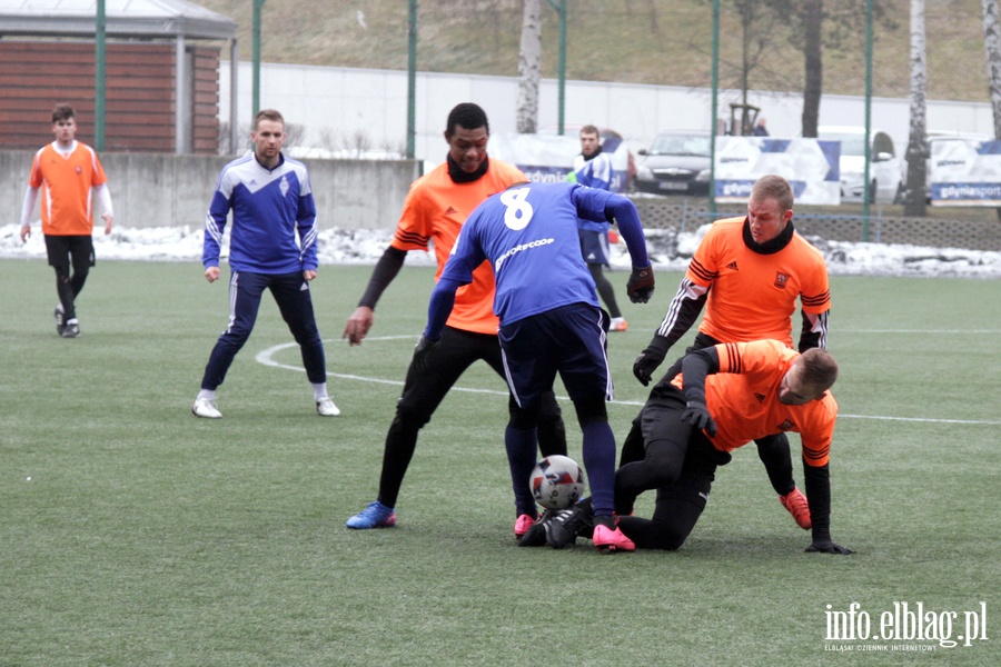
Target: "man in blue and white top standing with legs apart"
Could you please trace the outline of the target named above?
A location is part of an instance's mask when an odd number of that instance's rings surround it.
[[[219,250],[232,210],[229,242],[229,325],[205,367],[191,412],[219,419],[216,388],[254,329],[260,297],[271,290],[281,318],[299,344],[317,414],[340,414],[327,396],[324,344],[316,328],[309,281],[316,278],[316,205],[306,166],[281,155],[285,119],[274,109],[254,118],[255,150],[222,168],[205,220],[201,261],[209,282],[219,279]]]

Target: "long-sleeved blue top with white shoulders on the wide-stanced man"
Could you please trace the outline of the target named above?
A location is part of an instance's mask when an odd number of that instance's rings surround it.
[[[251,152],[222,168],[205,218],[206,268],[219,266],[230,209],[232,270],[271,275],[316,270],[316,205],[303,162],[281,156],[277,167],[266,169]]]

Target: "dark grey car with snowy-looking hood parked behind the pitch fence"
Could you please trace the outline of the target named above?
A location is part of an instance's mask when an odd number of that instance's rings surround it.
[[[706,131],[661,132],[636,166],[636,190],[653,195],[708,196],[712,166]]]

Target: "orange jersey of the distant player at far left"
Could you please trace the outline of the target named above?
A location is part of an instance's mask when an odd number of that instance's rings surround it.
[[[93,231],[95,186],[108,182],[97,153],[77,142],[63,157],[52,143],[34,153],[28,183],[42,188],[42,233],[49,236],[90,236]]]

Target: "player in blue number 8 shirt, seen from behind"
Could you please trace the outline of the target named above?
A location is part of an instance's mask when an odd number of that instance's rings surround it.
[[[537,415],[543,394],[563,379],[584,435],[584,467],[593,494],[594,544],[601,550],[632,550],[612,516],[615,437],[605,401],[612,378],[605,356],[608,316],[581,256],[577,218],[618,222],[633,263],[626,291],[633,302],[650,300],[654,277],[646,240],[632,201],[572,183],[515,185],[469,216],[432,292],[428,323],[414,352],[420,369],[435,355],[456,290],[489,260],[497,283],[494,312],[500,320],[504,367],[517,409],[504,435],[515,505],[536,517],[528,479],[535,468]]]

